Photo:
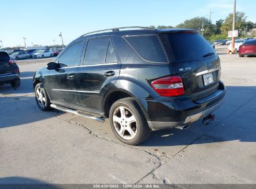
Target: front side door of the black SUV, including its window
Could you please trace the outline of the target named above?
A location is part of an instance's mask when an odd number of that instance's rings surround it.
[[[80,65],[84,42],[70,45],[56,60],[58,68],[49,70],[45,76],[52,103],[74,106],[78,103],[76,94],[76,71]]]

